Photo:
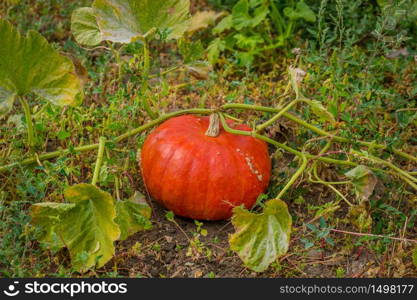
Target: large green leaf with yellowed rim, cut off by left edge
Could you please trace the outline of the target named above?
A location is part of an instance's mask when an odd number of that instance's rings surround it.
[[[16,96],[35,93],[53,104],[77,104],[81,83],[70,59],[60,55],[35,31],[26,36],[0,19],[0,113]]]

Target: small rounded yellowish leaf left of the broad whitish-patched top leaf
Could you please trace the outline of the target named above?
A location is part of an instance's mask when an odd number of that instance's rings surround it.
[[[95,46],[103,40],[94,9],[91,7],[81,7],[73,12],[71,32],[77,43],[82,45]]]

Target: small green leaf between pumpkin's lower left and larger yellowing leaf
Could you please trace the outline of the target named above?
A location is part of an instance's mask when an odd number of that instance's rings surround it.
[[[120,227],[120,240],[127,239],[132,234],[152,227],[149,218],[151,208],[145,201],[145,197],[139,193],[126,201],[116,202],[117,217],[116,223]]]

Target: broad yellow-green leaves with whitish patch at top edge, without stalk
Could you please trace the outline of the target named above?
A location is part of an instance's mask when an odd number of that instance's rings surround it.
[[[190,24],[189,0],[95,0],[92,8],[79,8],[72,16],[78,43],[101,41],[131,43],[158,31],[178,39]]]

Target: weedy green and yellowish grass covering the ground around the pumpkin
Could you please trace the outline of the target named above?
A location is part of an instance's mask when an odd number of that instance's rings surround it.
[[[141,46],[133,44],[127,47],[122,59],[130,60],[124,69],[129,80],[116,80],[119,70],[114,56],[100,48],[86,50],[78,46],[70,34],[71,12],[76,7],[89,5],[91,1],[81,2],[22,0],[17,6],[10,4],[0,11],[2,17],[22,31],[38,30],[57,48],[77,58],[85,66],[89,77],[85,86],[86,97],[81,106],[62,110],[39,99],[36,103],[41,104],[31,107],[37,132],[36,152],[69,149],[69,154],[0,174],[1,277],[79,276],[71,269],[65,250],[53,253],[43,249],[34,239],[35,229],[29,225],[27,213],[30,204],[62,202],[65,187],[91,181],[96,152],[80,153],[74,150],[75,147],[98,143],[99,137],[107,137],[110,142],[103,156],[100,187],[115,198],[122,199],[135,190],[144,192],[136,155],[146,133],[123,143],[113,140],[149,121],[142,103],[138,101],[140,84],[135,81],[130,68],[137,63],[132,53]],[[217,4],[228,7],[228,3],[221,2],[217,1]],[[303,120],[338,136],[379,143],[388,149],[415,155],[416,26],[395,18],[392,11],[395,8],[381,11],[375,4],[364,1],[321,1],[313,8],[318,15],[317,22],[307,31],[298,33],[293,46],[301,48],[298,67],[307,72],[302,83],[305,96],[327,107],[336,123],[323,122],[309,106],[302,103],[297,104],[292,111],[297,112]],[[356,23],[358,19],[360,24]],[[212,36],[205,32],[201,38],[207,44]],[[174,45],[159,43],[152,47],[162,53],[170,53],[175,49]],[[402,48],[407,48],[408,55],[389,58],[390,54]],[[175,56],[171,58],[173,63],[175,59]],[[235,65],[233,58],[222,57],[221,63],[203,81],[184,72],[168,75],[153,90],[158,109],[168,113],[179,109],[219,107],[231,102],[277,107],[291,99],[293,95],[281,97],[289,81],[287,68],[296,61],[291,49],[267,53],[258,60],[253,67],[242,69]],[[157,63],[157,57],[153,57],[152,61],[155,62],[153,70],[164,64]],[[16,107],[6,119],[0,121],[0,165],[31,157],[25,145],[26,123],[20,111]],[[238,113],[238,117],[253,127],[269,116],[267,112],[248,113],[242,110]],[[265,135],[296,149],[303,145],[304,150],[311,153],[319,153],[327,142],[311,130],[285,118],[268,127]],[[359,147],[333,143],[327,151],[333,152],[335,159],[352,159],[353,156],[347,155],[352,148]],[[382,153],[375,147],[370,147],[368,151],[382,155],[404,170],[417,171],[415,162],[392,156],[388,152]],[[268,198],[279,194],[298,164],[292,156],[281,150],[271,148],[271,153],[274,170]],[[355,161],[367,162],[357,157]],[[373,166],[381,167],[379,164]],[[343,174],[349,169],[326,163],[317,166],[318,174],[324,181],[343,180]],[[349,208],[326,185],[309,182],[308,175],[297,179],[284,196],[295,225],[290,251],[261,275],[416,276],[416,268],[411,261],[412,242],[350,234],[362,232],[417,239],[416,191],[395,176],[383,172],[376,172],[376,176],[378,183],[372,196],[356,210]],[[359,207],[350,185],[337,188],[349,202]],[[214,229],[210,229],[210,224],[204,224],[204,230],[209,232],[207,239],[201,234],[203,227],[199,225],[196,230],[195,225],[191,225],[186,232],[189,236],[195,236],[194,244],[183,249],[178,244],[178,255],[186,254],[187,249],[197,249],[199,255],[210,253],[210,258],[206,257],[201,263],[205,265],[215,257],[215,253],[211,252],[223,247],[223,244],[219,246],[210,242],[216,236],[216,232],[211,232]],[[164,233],[163,229],[158,230]],[[331,237],[331,240],[327,240],[327,237]],[[132,244],[137,242],[135,238]],[[158,257],[160,242],[142,246],[140,251]],[[127,257],[135,257],[130,246],[129,243],[118,244],[117,251],[125,253]],[[233,256],[227,249],[225,253]],[[205,254],[203,256],[207,256]],[[87,276],[143,276],[141,270],[126,275],[123,269],[128,266],[124,265],[124,261],[118,259],[117,263],[112,262],[101,270],[91,271]],[[207,271],[207,276],[218,277],[219,273],[217,270]],[[167,271],[167,274],[169,276],[172,273]],[[233,275],[252,276],[243,266]],[[155,274],[152,273],[152,276]]]

